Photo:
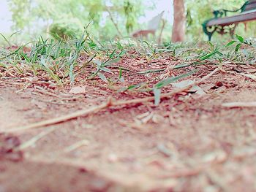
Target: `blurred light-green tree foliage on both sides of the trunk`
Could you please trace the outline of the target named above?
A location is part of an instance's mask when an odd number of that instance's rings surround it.
[[[157,1],[148,0],[8,0],[15,30],[29,34],[56,32],[62,35],[80,35],[89,23],[89,31],[94,37],[111,39],[116,36],[129,36],[138,26],[138,18],[147,9],[154,9]],[[172,1],[166,1],[172,7]],[[245,0],[184,0],[186,13],[187,39],[205,37],[202,26],[204,20],[212,18],[214,9],[237,9]],[[145,23],[146,25],[146,23]],[[164,37],[170,39],[171,26],[165,25]],[[255,22],[249,23],[247,31],[239,25],[237,33],[252,35]]]

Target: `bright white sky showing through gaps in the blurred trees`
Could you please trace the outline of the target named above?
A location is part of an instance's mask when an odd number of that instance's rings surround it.
[[[148,1],[148,0],[146,0]],[[150,0],[149,0],[150,1]],[[145,16],[138,18],[139,23],[146,23],[160,12],[165,11],[163,18],[168,23],[173,23],[173,3],[170,0],[154,0],[156,9],[146,11]],[[0,0],[0,33],[7,34],[12,33],[12,14],[9,11],[7,0]]]

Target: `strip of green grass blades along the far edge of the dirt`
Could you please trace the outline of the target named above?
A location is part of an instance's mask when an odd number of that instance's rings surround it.
[[[181,64],[173,67],[176,69],[187,69],[193,66],[197,69],[200,65],[214,64],[222,67],[229,62],[232,64],[255,65],[255,42],[236,35],[236,39],[226,45],[213,45],[205,42],[203,45],[194,43],[173,44],[170,42],[162,46],[154,45],[146,41],[135,41],[134,39],[122,39],[120,41],[98,42],[90,34],[84,33],[79,39],[56,41],[40,37],[35,42],[10,49],[10,40],[1,34],[6,42],[0,48],[0,72],[15,70],[17,74],[32,73],[34,76],[45,72],[45,77],[55,81],[58,85],[72,84],[79,73],[84,72],[86,67],[91,67],[92,72],[86,80],[94,80],[99,77],[104,82],[122,82],[122,75],[125,72],[132,73],[132,70],[116,65],[121,58],[165,58],[166,55],[181,60]],[[26,52],[26,47],[31,51]],[[83,61],[86,58],[86,61]],[[118,68],[116,80],[108,79],[105,74],[113,74],[112,69]],[[145,69],[135,72],[139,75],[163,72],[165,69]],[[147,82],[140,82],[138,85],[129,85],[121,91],[151,91],[156,96],[155,103],[159,104],[161,89],[181,78],[193,74],[194,71],[180,74],[177,77],[166,78],[149,88]],[[1,77],[1,74],[0,74]]]

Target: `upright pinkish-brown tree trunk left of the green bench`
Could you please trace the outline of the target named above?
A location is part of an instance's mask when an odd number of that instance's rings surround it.
[[[184,0],[173,0],[173,35],[172,42],[184,42],[186,33],[186,17]]]

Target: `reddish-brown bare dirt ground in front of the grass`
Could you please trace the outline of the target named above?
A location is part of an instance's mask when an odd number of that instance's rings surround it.
[[[171,60],[124,58],[118,65],[162,69]],[[215,68],[201,66],[187,79],[200,80]],[[8,72],[0,79],[0,191],[256,191],[256,107],[223,105],[256,101],[256,82],[241,74],[253,70],[227,64],[200,84],[205,94],[183,91],[157,107],[153,101],[114,106],[26,130],[22,126],[89,109],[108,96],[152,96],[116,90],[151,85],[159,74],[124,72],[125,82],[106,85],[85,80],[85,72],[75,85],[60,87]],[[78,86],[80,93],[70,92]]]

